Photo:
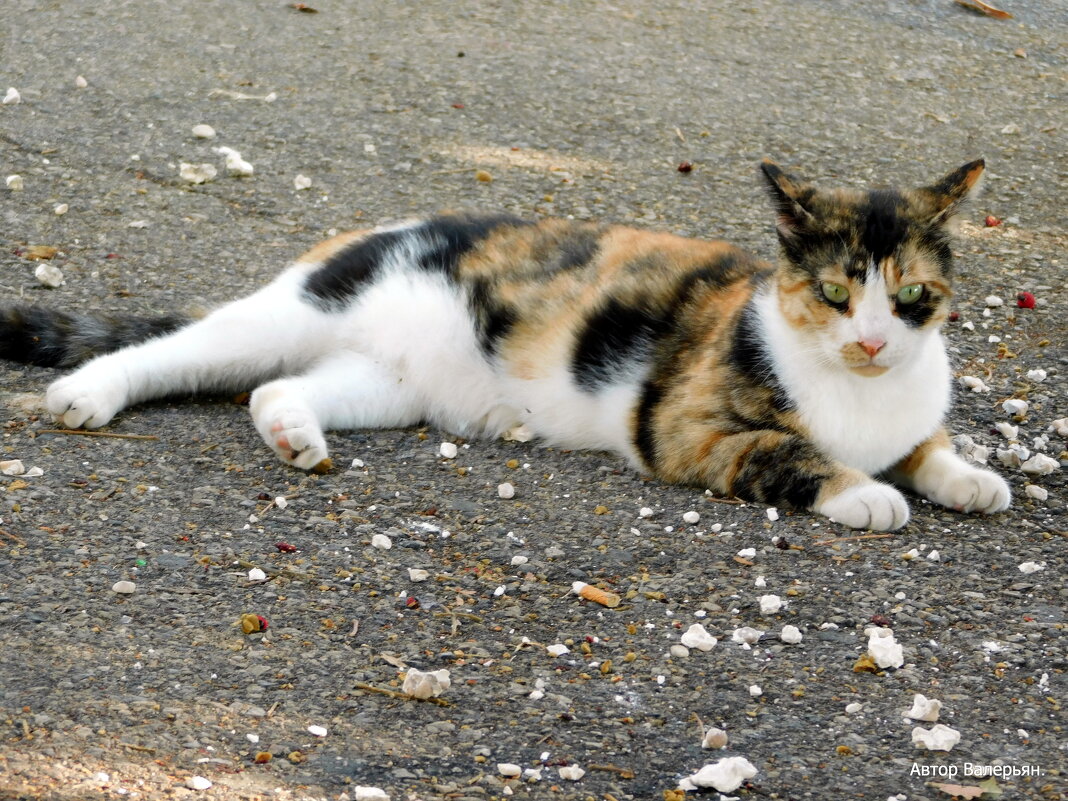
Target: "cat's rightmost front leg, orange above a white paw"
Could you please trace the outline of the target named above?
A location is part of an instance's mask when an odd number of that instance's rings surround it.
[[[954,453],[939,430],[890,471],[890,477],[917,494],[958,512],[991,514],[1008,508],[1008,484],[990,470],[973,467]]]

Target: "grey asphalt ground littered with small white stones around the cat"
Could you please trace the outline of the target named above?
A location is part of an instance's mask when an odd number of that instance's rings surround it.
[[[106,429],[123,437],[44,433],[56,374],[3,364],[0,456],[42,475],[0,480],[0,797],[660,799],[739,756],[742,798],[948,799],[931,783],[979,786],[967,766],[996,773],[984,798],[1063,798],[1068,6],[1003,2],[1015,18],[951,0],[5,6],[0,93],[21,103],[0,106],[0,172],[23,185],[0,186],[5,300],[209,308],[332,231],[460,207],[771,258],[764,157],[860,186],[983,156],[946,335],[990,391],[962,390],[948,425],[1015,501],[981,518],[914,499],[904,530],[860,538],[604,454],[435,429],[331,434],[337,468],[303,475],[234,398],[130,409]],[[227,175],[219,146],[254,174]],[[183,162],[219,175],[190,185]],[[56,249],[61,286],[31,246]],[[1048,437],[1062,469],[1003,465],[996,423],[1034,452]],[[761,612],[770,594],[785,606]],[[901,668],[854,671],[873,619]],[[719,643],[672,653],[694,623]],[[743,647],[743,626],[767,634]],[[450,671],[440,703],[389,694],[410,669]],[[951,752],[913,744],[931,727],[904,719],[914,693],[942,701]],[[725,751],[701,748],[712,725]]]

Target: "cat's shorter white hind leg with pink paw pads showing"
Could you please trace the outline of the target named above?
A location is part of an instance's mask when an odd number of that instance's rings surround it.
[[[415,393],[400,376],[351,350],[264,384],[249,407],[264,441],[301,470],[327,458],[325,430],[406,426],[422,418]]]

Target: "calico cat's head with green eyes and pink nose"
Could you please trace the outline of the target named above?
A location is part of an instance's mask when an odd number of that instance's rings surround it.
[[[947,224],[974,192],[981,159],[930,186],[817,189],[771,161],[779,214],[779,307],[828,364],[876,376],[906,363],[949,312]]]

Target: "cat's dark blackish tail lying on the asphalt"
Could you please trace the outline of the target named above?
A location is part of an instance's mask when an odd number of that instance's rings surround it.
[[[0,359],[42,367],[73,367],[94,356],[169,333],[189,321],[189,317],[176,314],[136,317],[2,305]]]

